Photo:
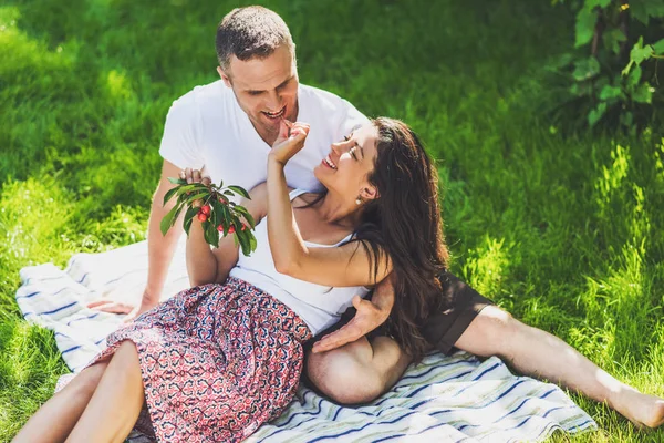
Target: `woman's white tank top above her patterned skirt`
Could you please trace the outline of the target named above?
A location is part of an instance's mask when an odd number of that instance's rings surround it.
[[[292,202],[305,190],[295,189],[290,193]],[[355,295],[366,296],[364,287],[329,287],[299,280],[274,269],[274,260],[268,241],[268,224],[266,217],[256,225],[253,235],[257,248],[247,257],[240,254],[238,264],[230,270],[230,277],[241,278],[259,289],[268,292],[291,308],[307,322],[314,336],[339,321],[341,313],[352,306]],[[336,247],[351,239],[351,235],[336,245],[319,245],[304,241],[312,247]]]

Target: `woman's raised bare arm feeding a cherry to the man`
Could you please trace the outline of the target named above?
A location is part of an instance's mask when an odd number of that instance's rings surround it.
[[[268,155],[268,238],[274,267],[281,274],[318,285],[375,285],[392,270],[385,254],[378,259],[374,279],[371,257],[360,241],[334,248],[317,248],[308,247],[302,240],[294,223],[283,174],[286,163],[302,148],[309,132],[309,126],[298,125],[293,125],[290,137],[283,136],[288,131],[280,134]]]

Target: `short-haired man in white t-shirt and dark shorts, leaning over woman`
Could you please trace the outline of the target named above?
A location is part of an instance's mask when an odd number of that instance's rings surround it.
[[[141,306],[127,321],[158,303],[181,235],[179,228],[166,236],[159,231],[159,222],[173,205],[162,205],[173,186],[168,177],[187,168],[197,179],[205,166],[214,182],[224,179],[250,189],[266,179],[267,155],[280,120],[288,119],[311,125],[304,148],[286,168],[289,185],[313,190],[318,187],[313,167],[328,154],[330,143],[366,122],[346,101],[299,83],[294,48],[283,20],[266,8],[236,9],[221,21],[217,31],[221,80],[185,94],[166,119],[159,150],[164,165],[148,224],[148,281]],[[633,421],[653,425],[664,416],[664,403],[657,403],[660,415],[649,415],[654,400],[611,378],[561,340],[512,319],[450,274],[440,278],[448,309],[432,315],[422,330],[433,347],[443,352],[454,346],[478,356],[498,354],[521,372],[608,401]],[[314,346],[308,374],[321,391],[340,402],[365,402],[401,377],[409,359],[396,342],[387,337],[364,338],[388,317],[393,300],[390,284],[380,286],[372,301],[355,298],[353,319]]]

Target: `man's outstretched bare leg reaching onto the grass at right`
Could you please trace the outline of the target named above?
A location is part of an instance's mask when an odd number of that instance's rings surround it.
[[[663,399],[620,382],[564,341],[521,323],[500,308],[484,308],[455,346],[476,356],[498,356],[521,373],[606,402],[635,424],[656,427],[664,423]]]

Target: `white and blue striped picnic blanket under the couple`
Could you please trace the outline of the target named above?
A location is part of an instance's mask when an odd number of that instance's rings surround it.
[[[184,241],[164,293],[188,285]],[[76,372],[105,346],[122,317],[86,308],[98,298],[136,303],[147,275],[147,245],[77,254],[65,270],[23,268],[17,302],[28,321],[55,332],[65,363]],[[340,406],[300,387],[289,409],[249,442],[533,442],[556,430],[578,433],[594,421],[558,387],[516,377],[498,358],[465,352],[428,354],[386,394],[361,406]],[[129,441],[148,441],[134,433]]]

